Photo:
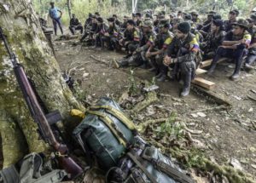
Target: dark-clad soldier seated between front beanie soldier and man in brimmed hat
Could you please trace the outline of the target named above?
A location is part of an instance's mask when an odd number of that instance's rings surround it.
[[[212,20],[211,32],[207,34],[206,41],[201,43],[201,50],[204,52],[203,60],[212,59],[216,54],[218,47],[224,39],[223,20]]]

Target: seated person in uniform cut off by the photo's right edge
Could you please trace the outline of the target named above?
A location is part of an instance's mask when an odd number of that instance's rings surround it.
[[[244,67],[247,71],[250,71],[253,69],[253,63],[256,62],[256,14],[252,14],[247,21],[249,22],[248,32],[252,35],[252,42],[248,49]]]

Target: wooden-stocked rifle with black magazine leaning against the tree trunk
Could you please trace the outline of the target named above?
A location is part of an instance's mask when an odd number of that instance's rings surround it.
[[[42,107],[39,105],[37,96],[32,89],[32,85],[26,77],[26,73],[23,67],[18,63],[16,55],[11,52],[9,45],[7,43],[6,37],[3,35],[3,30],[0,27],[0,38],[3,39],[5,48],[7,49],[10,60],[14,66],[15,77],[19,83],[20,89],[26,100],[26,105],[34,119],[35,123],[38,124],[38,130],[42,138],[49,146],[52,146],[55,150],[55,154],[61,169],[65,169],[68,174],[70,174],[70,179],[77,177],[83,172],[83,169],[79,167],[77,163],[73,161],[71,157],[67,156],[68,149],[67,145],[61,144],[55,139],[52,129],[50,128],[50,123],[55,123],[61,118],[60,113],[53,112],[47,115],[44,114]],[[59,115],[59,117],[55,117]]]

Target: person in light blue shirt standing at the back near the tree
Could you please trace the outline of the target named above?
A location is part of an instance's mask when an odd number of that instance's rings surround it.
[[[49,17],[51,18],[52,23],[54,25],[55,36],[57,35],[57,25],[60,27],[61,34],[63,35],[63,30],[62,30],[62,26],[61,26],[62,12],[60,9],[55,7],[54,2],[51,2],[49,4],[50,4]],[[58,14],[58,12],[60,13],[60,15]]]

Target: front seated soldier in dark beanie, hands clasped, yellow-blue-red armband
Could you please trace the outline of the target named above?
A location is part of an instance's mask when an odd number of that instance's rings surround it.
[[[172,39],[164,60],[166,66],[175,64],[172,76],[181,73],[183,78],[181,96],[189,94],[191,80],[195,77],[195,55],[199,51],[199,44],[195,36],[190,33],[190,29],[189,22],[178,24],[176,36]]]

